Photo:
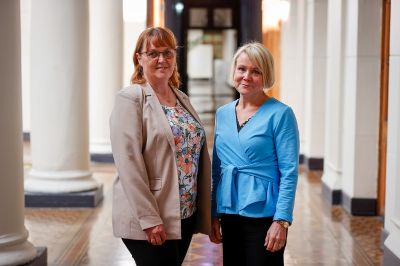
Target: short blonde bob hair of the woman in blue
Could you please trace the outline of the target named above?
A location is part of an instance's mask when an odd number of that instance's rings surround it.
[[[259,42],[246,43],[236,51],[231,64],[231,85],[234,86],[233,77],[235,75],[236,63],[242,53],[245,53],[250,61],[261,71],[264,89],[271,88],[275,82],[274,58],[268,49]]]

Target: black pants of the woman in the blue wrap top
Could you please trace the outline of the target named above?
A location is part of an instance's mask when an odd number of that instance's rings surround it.
[[[222,215],[224,266],[284,265],[285,247],[277,252],[267,251],[264,247],[265,237],[272,222],[272,217],[249,218],[240,215]]]

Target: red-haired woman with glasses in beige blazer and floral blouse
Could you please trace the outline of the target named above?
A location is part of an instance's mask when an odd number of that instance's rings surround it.
[[[206,137],[177,89],[176,48],[166,28],[141,33],[132,85],[118,93],[110,118],[114,235],[139,266],[181,265],[192,235],[211,228]]]

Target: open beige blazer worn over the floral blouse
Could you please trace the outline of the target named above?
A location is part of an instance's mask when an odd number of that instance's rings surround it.
[[[200,119],[183,92],[174,93]],[[149,84],[119,91],[110,118],[111,146],[118,175],[113,193],[116,237],[146,239],[143,229],[164,224],[167,239],[181,238],[175,143],[168,120]],[[196,232],[211,231],[211,162],[203,145],[197,194]]]

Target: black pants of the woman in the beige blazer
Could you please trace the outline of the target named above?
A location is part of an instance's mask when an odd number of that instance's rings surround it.
[[[167,240],[161,246],[154,246],[147,240],[123,238],[137,266],[180,266],[185,259],[192,240],[196,214],[181,220],[182,239]]]

